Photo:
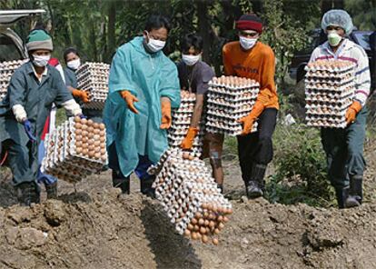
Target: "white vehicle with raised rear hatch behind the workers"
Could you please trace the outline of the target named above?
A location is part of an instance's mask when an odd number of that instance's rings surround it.
[[[44,9],[0,10],[0,63],[28,57],[22,38],[11,26],[22,18],[44,13]]]

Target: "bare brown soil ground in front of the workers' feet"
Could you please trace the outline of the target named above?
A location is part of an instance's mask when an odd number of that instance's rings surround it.
[[[373,146],[372,146],[373,144]],[[157,201],[111,186],[111,172],[59,182],[58,200],[30,208],[0,176],[0,268],[376,268],[376,146],[369,142],[365,203],[338,210],[248,200],[238,164],[226,158],[234,213],[220,244],[176,234]]]

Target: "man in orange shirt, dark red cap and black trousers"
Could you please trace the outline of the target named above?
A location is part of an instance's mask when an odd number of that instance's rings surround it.
[[[249,198],[264,193],[264,175],[272,161],[272,133],[279,109],[274,84],[275,57],[272,48],[258,38],[262,34],[262,21],[257,15],[242,15],[236,21],[239,41],[223,46],[225,75],[235,75],[256,80],[260,93],[249,115],[239,120],[242,134],[237,137],[242,180]],[[258,130],[251,134],[257,122]]]

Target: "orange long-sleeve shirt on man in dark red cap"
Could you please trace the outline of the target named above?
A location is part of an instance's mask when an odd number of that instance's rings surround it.
[[[254,79],[260,84],[257,101],[265,108],[279,109],[278,95],[274,83],[275,57],[272,48],[257,42],[250,51],[244,51],[239,41],[223,46],[225,75],[236,75]]]

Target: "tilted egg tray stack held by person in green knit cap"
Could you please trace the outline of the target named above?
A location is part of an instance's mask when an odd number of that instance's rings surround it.
[[[70,183],[99,173],[107,163],[104,124],[71,117],[46,135],[42,172]]]

